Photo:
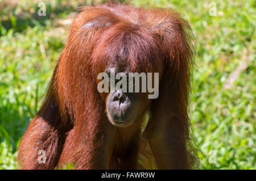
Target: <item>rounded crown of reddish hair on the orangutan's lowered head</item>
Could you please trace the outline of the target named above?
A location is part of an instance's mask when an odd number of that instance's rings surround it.
[[[112,28],[117,30],[114,26]],[[144,37],[141,30],[122,30],[115,35],[112,32],[106,30],[102,34],[104,38],[100,40],[101,44],[96,45],[97,51],[100,50],[100,59],[106,62],[106,67],[115,68],[118,72],[146,72],[156,65],[159,49],[152,39]]]

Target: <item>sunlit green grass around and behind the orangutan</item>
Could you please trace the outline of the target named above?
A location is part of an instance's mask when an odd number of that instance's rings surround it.
[[[37,15],[36,1],[0,2],[0,169],[16,169],[20,138],[42,103],[72,12],[85,5],[44,2],[46,16]],[[256,1],[132,2],[173,7],[191,23],[197,42],[191,118],[200,169],[256,169]]]

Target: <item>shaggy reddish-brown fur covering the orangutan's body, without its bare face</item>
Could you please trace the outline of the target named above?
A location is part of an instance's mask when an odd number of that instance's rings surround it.
[[[113,4],[82,8],[69,28],[43,106],[22,138],[20,168],[63,169],[72,163],[74,169],[138,169],[134,163],[139,162],[151,169],[146,164],[151,157],[158,169],[191,169],[197,161],[188,117],[192,38],[189,24],[174,10]],[[121,47],[131,70],[160,75],[159,97],[129,128],[109,123],[105,99],[97,91],[97,74]],[[39,150],[46,151],[45,164],[38,163]],[[151,155],[144,157],[144,150]]]

